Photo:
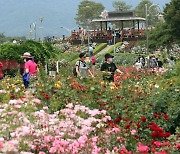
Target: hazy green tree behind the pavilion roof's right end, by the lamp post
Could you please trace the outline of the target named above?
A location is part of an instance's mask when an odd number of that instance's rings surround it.
[[[157,14],[158,14],[158,7],[157,5],[153,5],[152,6],[152,2],[150,0],[142,0],[138,6],[135,8],[135,13],[136,13],[136,16],[139,16],[139,17],[142,17],[142,18],[146,18],[146,8],[145,8],[145,4],[147,4],[147,14],[149,14],[148,16],[148,25],[151,25],[151,26],[155,26],[156,23],[158,23],[158,17],[157,17]],[[152,6],[150,8],[150,6]]]

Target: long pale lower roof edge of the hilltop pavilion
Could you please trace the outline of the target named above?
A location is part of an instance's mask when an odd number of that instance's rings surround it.
[[[107,18],[100,18],[100,19],[93,19],[92,22],[111,22],[111,21],[146,21],[145,18],[141,17],[107,17]]]

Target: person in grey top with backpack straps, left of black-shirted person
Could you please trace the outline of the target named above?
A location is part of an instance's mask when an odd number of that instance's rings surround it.
[[[90,71],[89,67],[87,66],[85,60],[86,60],[86,53],[80,53],[79,54],[79,58],[80,60],[78,60],[76,62],[76,72],[77,72],[77,76],[80,79],[85,79],[87,78],[88,73],[91,75],[92,78],[94,78],[94,75],[92,74],[92,72]]]

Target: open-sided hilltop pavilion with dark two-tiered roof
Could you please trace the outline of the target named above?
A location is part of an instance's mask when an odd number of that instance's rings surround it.
[[[109,35],[112,35],[113,32],[116,33],[116,41],[122,40],[139,40],[144,39],[144,27],[140,28],[140,25],[144,25],[146,21],[145,18],[135,16],[134,11],[112,11],[112,12],[103,12],[102,17],[99,19],[93,19],[92,22],[100,24],[100,32],[98,32],[99,37],[96,37],[96,30],[94,29],[94,40],[108,38]],[[125,23],[131,23],[131,27],[125,27]],[[108,24],[116,24],[116,28],[108,29]],[[105,29],[103,29],[105,25]]]

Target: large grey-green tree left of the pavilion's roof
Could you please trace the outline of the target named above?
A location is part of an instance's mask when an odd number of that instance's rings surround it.
[[[83,0],[78,6],[76,23],[83,28],[90,26],[92,19],[98,18],[105,7],[101,3]]]

